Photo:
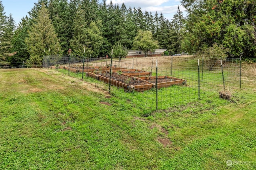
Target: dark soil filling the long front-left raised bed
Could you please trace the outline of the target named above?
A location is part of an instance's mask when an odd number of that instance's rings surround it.
[[[101,76],[104,76],[106,78],[109,78],[110,74],[109,73],[103,73],[101,74]],[[115,80],[115,81],[118,81],[118,82],[122,82],[124,84],[127,84],[127,85],[146,85],[148,84],[148,82],[145,82],[139,78],[136,78],[136,77],[129,77],[129,76],[126,76],[126,75],[118,75],[118,74],[112,74],[111,75],[111,80]]]

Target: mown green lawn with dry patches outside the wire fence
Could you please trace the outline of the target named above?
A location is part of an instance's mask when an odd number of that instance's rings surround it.
[[[0,169],[254,170],[255,65],[243,75],[232,101],[145,117],[128,93],[110,96],[55,70],[0,70]]]

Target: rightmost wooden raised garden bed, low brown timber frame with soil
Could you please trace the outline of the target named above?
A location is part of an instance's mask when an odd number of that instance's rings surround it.
[[[146,80],[150,83],[154,84],[154,87],[156,85],[156,76],[144,76],[140,77],[142,80]],[[162,87],[169,87],[174,84],[186,84],[186,80],[176,78],[176,77],[171,77],[171,76],[158,76],[157,77],[157,88],[162,88]]]

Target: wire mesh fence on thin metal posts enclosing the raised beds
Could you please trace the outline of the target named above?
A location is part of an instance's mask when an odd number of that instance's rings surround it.
[[[43,67],[84,80],[145,113],[190,104],[241,87],[240,59],[167,56],[120,61],[50,55],[44,57]]]

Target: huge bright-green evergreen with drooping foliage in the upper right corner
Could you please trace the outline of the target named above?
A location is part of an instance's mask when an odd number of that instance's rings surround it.
[[[182,0],[188,11],[183,49],[196,52],[213,43],[223,44],[230,54],[256,57],[256,3],[254,1]]]

